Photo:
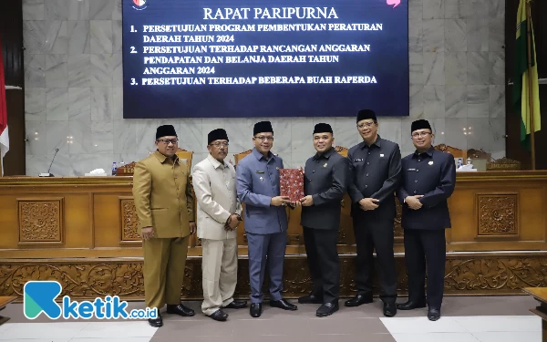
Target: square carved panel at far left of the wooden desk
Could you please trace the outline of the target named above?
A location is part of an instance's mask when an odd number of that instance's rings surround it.
[[[63,243],[63,198],[18,199],[19,244]]]

